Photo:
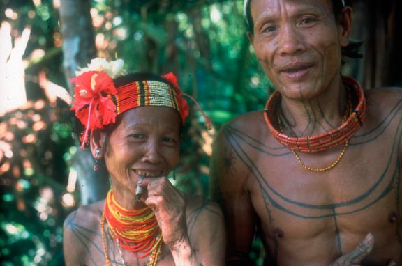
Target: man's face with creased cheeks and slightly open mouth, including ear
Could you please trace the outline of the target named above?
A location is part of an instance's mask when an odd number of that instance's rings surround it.
[[[348,34],[329,0],[252,0],[251,17],[255,55],[284,97],[309,99],[331,86]]]

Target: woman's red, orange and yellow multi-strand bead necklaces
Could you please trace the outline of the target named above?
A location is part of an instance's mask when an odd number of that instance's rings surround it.
[[[112,263],[110,263],[109,256],[107,256],[105,221],[113,240],[117,242],[123,262],[124,258],[120,247],[131,251],[136,258],[149,256],[148,265],[156,265],[161,251],[162,237],[158,221],[156,221],[155,214],[150,208],[127,210],[114,200],[112,190],[107,193],[101,219],[101,233],[105,259],[109,266]]]

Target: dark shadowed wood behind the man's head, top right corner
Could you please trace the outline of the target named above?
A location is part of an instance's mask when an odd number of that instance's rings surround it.
[[[398,0],[353,0],[355,35],[364,40],[364,88],[401,86],[402,9]],[[360,75],[359,75],[360,77]]]

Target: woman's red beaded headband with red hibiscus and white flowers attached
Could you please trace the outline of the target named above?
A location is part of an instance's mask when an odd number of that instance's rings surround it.
[[[116,117],[129,109],[147,106],[171,107],[179,112],[183,124],[188,116],[188,103],[182,96],[186,95],[191,100],[193,98],[179,90],[177,78],[173,73],[161,77],[165,82],[139,80],[115,87],[112,78],[124,73],[122,66],[121,59],[107,62],[105,59],[96,58],[88,68],[76,72],[77,77],[70,79],[75,84],[71,110],[75,111],[75,116],[85,127],[84,134],[80,137],[81,148],[87,143],[89,132],[115,123]],[[201,109],[200,111],[202,112]],[[211,127],[204,112],[202,115]]]

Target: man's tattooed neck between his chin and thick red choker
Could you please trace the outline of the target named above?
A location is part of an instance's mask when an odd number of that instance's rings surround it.
[[[345,116],[348,93],[338,76],[317,97],[293,100],[282,97],[278,119],[285,134],[312,136],[338,127]]]

